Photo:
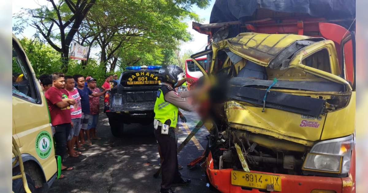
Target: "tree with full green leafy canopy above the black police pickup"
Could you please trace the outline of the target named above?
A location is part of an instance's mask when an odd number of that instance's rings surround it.
[[[198,1],[199,6],[203,6],[203,2],[206,1]],[[118,61],[131,65],[140,60],[119,59],[121,54],[118,53],[135,50],[132,48],[134,46],[141,48],[139,56],[149,56],[144,47],[153,50],[156,50],[153,46],[173,49],[178,40],[190,40],[190,34],[186,31],[187,25],[181,21],[187,17],[198,20],[198,15],[190,12],[188,7],[195,3],[196,1],[187,0],[105,0],[96,4],[91,9],[91,17],[88,15],[86,20],[90,28],[95,29],[98,34],[100,62],[109,65],[110,71],[114,71]],[[145,46],[137,46],[139,44]]]

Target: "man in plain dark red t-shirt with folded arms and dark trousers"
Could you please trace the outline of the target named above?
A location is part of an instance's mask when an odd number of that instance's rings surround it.
[[[50,111],[51,124],[55,128],[55,151],[56,155],[61,156],[61,160],[63,160],[66,153],[66,139],[71,129],[70,105],[75,104],[74,99],[68,99],[69,94],[64,89],[64,86],[64,74],[61,72],[54,73],[52,75],[52,87],[45,93],[47,106],[49,106]],[[62,165],[61,169],[71,170],[73,168]]]

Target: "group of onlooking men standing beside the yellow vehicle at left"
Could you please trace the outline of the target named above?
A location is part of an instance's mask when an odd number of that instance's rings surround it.
[[[56,72],[43,74],[39,80],[50,111],[56,155],[61,156],[62,161],[66,154],[71,158],[79,157],[86,150],[83,146],[101,139],[96,135],[99,97],[117,85],[117,75],[106,77],[103,91],[96,86],[97,80],[92,76],[84,78],[79,74],[70,76]],[[63,171],[72,169],[61,166]]]

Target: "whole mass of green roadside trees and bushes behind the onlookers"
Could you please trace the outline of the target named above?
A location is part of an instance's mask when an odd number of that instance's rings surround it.
[[[50,0],[52,2],[54,0]],[[36,75],[67,71],[68,75],[92,75],[98,79],[98,84],[102,84],[107,69],[112,71],[107,74],[112,74],[116,67],[122,71],[131,65],[182,65],[184,63],[175,53],[177,44],[192,39],[184,21],[200,21],[191,7],[205,8],[209,5],[209,0],[81,2],[89,2],[86,4],[91,9],[81,5],[71,8],[70,4],[76,4],[76,1],[64,0],[55,1],[56,8],[49,4],[15,14],[14,18],[19,21],[13,26],[13,31],[22,32],[29,25],[38,28],[35,37],[43,37],[44,42],[40,39],[21,40]],[[79,11],[73,12],[73,9]],[[88,10],[88,14],[82,14],[81,10]],[[77,25],[74,26],[75,22]],[[61,60],[68,56],[68,41],[71,39],[84,46],[100,47],[100,59],[89,58],[87,65],[82,65],[79,60]]]

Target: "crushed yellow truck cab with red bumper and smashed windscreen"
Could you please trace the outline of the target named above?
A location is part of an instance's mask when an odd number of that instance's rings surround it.
[[[209,76],[225,75],[230,85],[222,103],[225,124],[215,128],[223,140],[210,147],[206,162],[213,186],[221,192],[355,192],[355,90],[342,78],[345,62],[340,67],[332,40],[241,33],[213,43],[206,54]]]

